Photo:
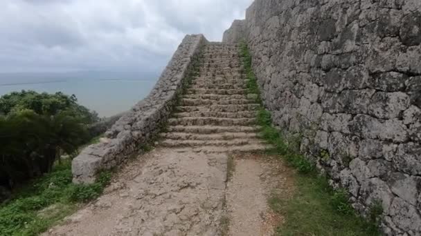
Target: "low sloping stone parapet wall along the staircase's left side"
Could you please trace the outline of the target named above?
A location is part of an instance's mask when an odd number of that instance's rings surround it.
[[[136,155],[159,132],[206,42],[203,35],[187,35],[183,39],[150,95],[118,119],[106,132],[106,139],[88,146],[73,159],[73,182],[93,182],[98,171],[118,166]]]

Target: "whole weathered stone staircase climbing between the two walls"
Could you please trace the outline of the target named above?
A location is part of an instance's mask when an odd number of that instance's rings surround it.
[[[199,73],[181,98],[161,146],[205,153],[259,151],[256,95],[247,95],[239,46],[208,43]]]

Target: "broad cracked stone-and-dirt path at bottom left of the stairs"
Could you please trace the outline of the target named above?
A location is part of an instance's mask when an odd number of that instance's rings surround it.
[[[44,235],[218,235],[226,160],[225,154],[154,150]]]

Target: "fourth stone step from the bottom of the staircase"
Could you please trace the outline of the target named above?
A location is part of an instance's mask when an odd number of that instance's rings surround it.
[[[259,132],[260,126],[168,126],[168,132],[214,134],[220,132]]]

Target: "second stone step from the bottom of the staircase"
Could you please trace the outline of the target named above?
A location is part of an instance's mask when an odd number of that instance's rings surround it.
[[[164,147],[194,147],[194,146],[242,146],[247,144],[264,144],[259,139],[230,139],[230,140],[175,140],[164,139],[160,141],[161,146]]]

